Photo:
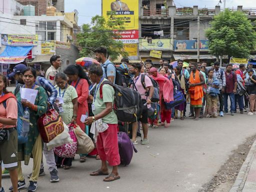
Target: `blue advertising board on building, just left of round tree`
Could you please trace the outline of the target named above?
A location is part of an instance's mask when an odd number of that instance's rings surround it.
[[[196,40],[174,40],[174,50],[195,50],[197,49]],[[199,49],[208,49],[208,40],[200,40]]]

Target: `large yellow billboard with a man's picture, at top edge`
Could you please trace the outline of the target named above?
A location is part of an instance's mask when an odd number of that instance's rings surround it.
[[[138,29],[138,0],[102,0],[102,15],[110,21],[120,18],[125,29]]]

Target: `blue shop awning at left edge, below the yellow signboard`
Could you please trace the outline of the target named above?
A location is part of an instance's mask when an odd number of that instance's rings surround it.
[[[0,54],[0,63],[17,64],[23,62],[32,47],[33,46],[6,45],[5,49]]]

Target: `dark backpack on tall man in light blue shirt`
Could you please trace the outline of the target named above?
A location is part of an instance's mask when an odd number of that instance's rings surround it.
[[[104,68],[105,68],[105,74],[106,74],[106,70],[107,70],[107,66],[108,64],[112,64],[114,65],[113,63],[111,62],[108,62]],[[115,67],[115,66],[114,66]],[[115,82],[114,84],[117,84],[117,85],[121,85],[121,86],[125,86],[127,87],[128,84],[129,84],[129,81],[130,81],[131,77],[128,73],[128,69],[126,68],[121,68],[121,67],[115,67]]]

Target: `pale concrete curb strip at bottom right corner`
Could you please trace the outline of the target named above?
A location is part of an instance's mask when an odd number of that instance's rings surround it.
[[[251,145],[251,148],[247,154],[247,157],[246,157],[245,161],[243,162],[243,164],[239,170],[239,173],[234,181],[234,184],[232,185],[229,192],[241,192],[242,191],[244,184],[246,182],[247,175],[250,170],[251,164],[252,164],[253,160],[255,160],[254,159],[255,154],[256,154],[256,140]]]

